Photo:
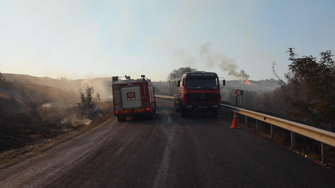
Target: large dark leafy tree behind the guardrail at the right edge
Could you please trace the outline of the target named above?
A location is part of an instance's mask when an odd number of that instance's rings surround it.
[[[288,85],[283,89],[290,115],[335,132],[335,64],[331,51],[320,53],[319,62],[312,56],[296,58],[293,48],[287,52],[292,63],[285,74]]]

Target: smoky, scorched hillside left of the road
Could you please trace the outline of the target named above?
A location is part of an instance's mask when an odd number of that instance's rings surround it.
[[[76,104],[80,102],[78,90],[85,89],[86,84],[104,88],[96,80],[83,85],[82,80],[3,76],[6,80],[0,85],[0,151],[53,137],[99,115],[82,114]]]

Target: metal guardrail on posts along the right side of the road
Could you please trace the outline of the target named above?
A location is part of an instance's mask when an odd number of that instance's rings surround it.
[[[168,99],[168,100],[173,99],[173,97],[171,97],[171,96],[156,95],[156,97],[161,98],[161,99],[165,99],[165,100],[166,99]],[[262,114],[262,113],[259,113],[259,112],[254,112],[254,111],[251,111],[251,110],[246,110],[246,109],[243,109],[243,108],[237,108],[237,107],[233,107],[233,106],[229,106],[229,105],[221,104],[221,108],[229,110],[229,111],[235,111],[235,109],[236,109],[237,113],[245,115],[246,116],[246,122],[245,122],[246,125],[248,123],[247,117],[251,117],[251,118],[254,118],[256,120],[260,120],[260,121],[271,124],[271,137],[272,137],[273,131],[274,131],[273,126],[278,126],[278,127],[283,128],[283,129],[291,131],[291,148],[295,148],[295,133],[321,142],[323,163],[326,163],[326,161],[324,161],[325,160],[325,155],[326,155],[326,147],[327,147],[326,145],[335,147],[335,133],[334,132],[326,131],[326,130],[315,128],[315,127],[308,126],[308,125],[305,125],[305,124],[301,124],[301,123],[289,121],[289,120],[286,120],[286,119]],[[257,126],[256,130],[258,130],[258,124],[256,126]]]

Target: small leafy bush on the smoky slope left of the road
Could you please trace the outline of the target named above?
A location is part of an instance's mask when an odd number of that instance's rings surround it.
[[[94,95],[94,87],[86,86],[85,92],[79,89],[80,102],[77,103],[83,112],[93,111],[99,101],[103,100],[99,93]],[[94,95],[94,96],[93,96]]]

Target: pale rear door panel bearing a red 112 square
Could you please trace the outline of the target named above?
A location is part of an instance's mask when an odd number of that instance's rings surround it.
[[[141,108],[140,86],[121,87],[123,109]]]

